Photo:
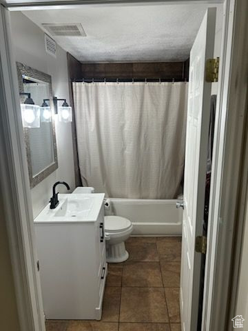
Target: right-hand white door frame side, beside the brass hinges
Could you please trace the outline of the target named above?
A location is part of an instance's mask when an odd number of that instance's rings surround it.
[[[240,228],[247,190],[247,22],[246,0],[225,3],[220,55],[220,86],[209,205],[209,230],[203,305],[205,330],[232,330],[240,252]],[[241,223],[241,224],[240,224]],[[234,259],[235,258],[235,259]]]

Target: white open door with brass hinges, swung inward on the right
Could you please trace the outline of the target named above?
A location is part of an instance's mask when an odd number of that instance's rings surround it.
[[[183,331],[196,331],[201,253],[196,237],[203,234],[207,142],[211,83],[205,81],[205,63],[214,54],[216,8],[209,8],[200,26],[189,61],[189,96],[185,150],[185,183],[180,279]]]

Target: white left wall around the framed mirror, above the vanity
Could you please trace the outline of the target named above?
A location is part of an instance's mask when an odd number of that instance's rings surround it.
[[[44,32],[21,12],[11,12],[11,21],[16,61],[50,74],[53,95],[69,101],[66,52],[57,46],[56,59],[47,54]],[[71,124],[56,119],[55,125],[59,168],[31,190],[34,217],[47,205],[52,196],[52,185],[56,181],[66,181],[70,191],[75,186]],[[66,188],[60,185],[59,192],[65,191]]]

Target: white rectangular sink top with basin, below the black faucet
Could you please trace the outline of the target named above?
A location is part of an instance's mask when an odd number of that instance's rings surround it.
[[[59,194],[59,205],[54,209],[50,209],[50,204],[46,205],[34,222],[94,222],[103,205],[103,199],[103,193]]]

